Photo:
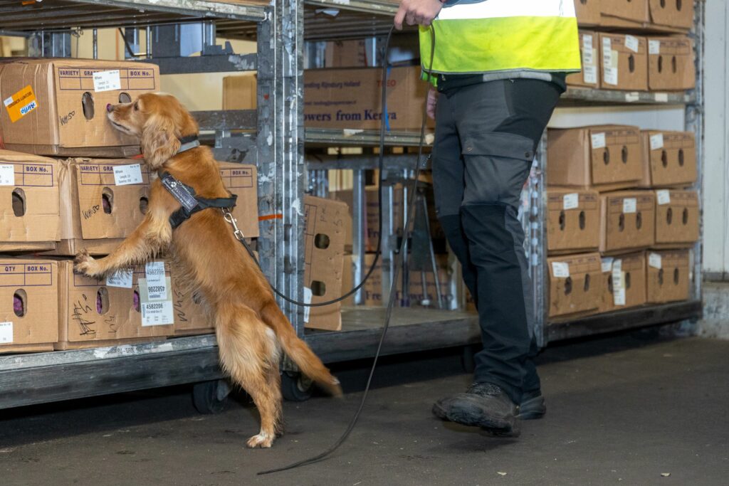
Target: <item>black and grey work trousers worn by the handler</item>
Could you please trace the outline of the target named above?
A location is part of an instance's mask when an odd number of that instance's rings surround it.
[[[537,79],[480,82],[440,93],[433,157],[435,206],[475,299],[483,350],[475,383],[516,403],[539,389],[521,190],[561,89]]]

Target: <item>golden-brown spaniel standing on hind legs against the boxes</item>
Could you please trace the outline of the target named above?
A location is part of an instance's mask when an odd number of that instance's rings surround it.
[[[151,171],[170,173],[200,197],[230,196],[210,149],[198,146],[178,153],[180,139],[198,135],[198,124],[176,98],[149,93],[107,110],[115,128],[141,138],[144,161]],[[76,269],[101,278],[162,252],[172,254],[210,310],[223,369],[259,409],[261,431],[249,439],[249,447],[270,447],[281,425],[279,345],[305,375],[330,393],[341,394],[339,382],[297,337],[222,211],[198,211],[173,231],[169,218],[179,208],[180,203],[156,179],[139,227],[109,256],[93,259],[82,251]]]

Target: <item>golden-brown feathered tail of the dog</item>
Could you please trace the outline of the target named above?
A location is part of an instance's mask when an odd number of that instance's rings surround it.
[[[260,315],[262,321],[276,333],[284,353],[294,361],[304,375],[311,378],[317,385],[332,395],[342,395],[339,380],[332,376],[329,369],[324,366],[324,363],[313,353],[311,348],[299,339],[289,319],[276,305],[276,301],[272,300],[262,307]]]

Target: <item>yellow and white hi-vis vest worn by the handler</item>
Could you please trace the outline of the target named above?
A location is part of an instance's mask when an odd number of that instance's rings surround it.
[[[480,74],[494,71],[580,71],[573,0],[484,0],[445,7],[432,33],[420,28],[423,70]]]

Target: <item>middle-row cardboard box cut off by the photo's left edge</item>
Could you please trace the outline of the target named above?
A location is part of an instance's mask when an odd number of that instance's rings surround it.
[[[0,150],[0,251],[55,248],[60,167],[53,159]]]

